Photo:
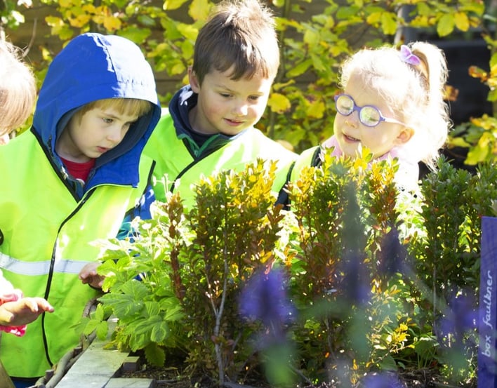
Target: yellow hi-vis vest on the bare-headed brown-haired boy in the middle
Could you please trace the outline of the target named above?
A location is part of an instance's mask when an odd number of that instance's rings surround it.
[[[272,186],[277,194],[298,156],[253,127],[210,154],[193,156],[185,146],[186,140],[176,135],[171,115],[164,112],[167,112],[166,109],[163,109],[163,116],[143,151],[157,163],[154,168],[154,178],[157,179],[154,194],[159,201],[165,201],[166,192],[179,192],[185,206],[191,208],[194,192],[190,187],[199,182],[201,176],[216,175],[223,170],[239,172],[248,164],[256,163],[257,159],[277,162]]]

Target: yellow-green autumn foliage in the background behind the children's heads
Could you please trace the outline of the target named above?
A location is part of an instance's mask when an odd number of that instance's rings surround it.
[[[26,48],[27,59],[41,83],[48,63],[75,35],[92,31],[126,36],[140,45],[150,60],[157,75],[161,102],[166,106],[171,93],[187,82],[194,41],[213,3],[209,0],[0,0],[0,38]],[[447,90],[447,99],[455,130],[446,151],[449,159],[470,170],[477,163],[495,159],[494,3],[493,0],[267,1],[277,15],[281,67],[269,107],[258,127],[296,152],[317,145],[333,131],[332,97],[337,91],[338,66],[345,56],[362,46],[429,40],[444,48],[452,74],[449,83],[453,85]],[[481,48],[476,55],[470,51],[475,45]],[[452,58],[449,51],[458,56]],[[456,71],[453,68],[461,66],[461,57],[470,62]],[[468,105],[476,107],[471,110]]]

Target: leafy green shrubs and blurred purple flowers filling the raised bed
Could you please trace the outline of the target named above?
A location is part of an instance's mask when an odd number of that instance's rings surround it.
[[[134,221],[134,242],[103,243],[109,292],[86,333],[103,337],[112,314],[113,345],[156,365],[183,355],[220,383],[264,368],[274,387],[425,367],[472,377],[495,168],[472,177],[442,159],[417,195],[397,192],[396,168],[326,158],[289,187],[291,211],[273,205],[262,163],[199,182],[194,210],[172,195]]]

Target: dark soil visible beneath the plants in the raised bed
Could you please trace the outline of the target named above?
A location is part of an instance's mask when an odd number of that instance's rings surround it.
[[[220,388],[216,381],[205,376],[187,377],[180,366],[169,368],[156,368],[142,364],[140,370],[123,373],[121,377],[151,378],[155,380],[156,388]],[[476,380],[471,380],[465,384],[454,385],[446,382],[444,377],[436,370],[410,370],[397,373],[400,384],[373,384],[374,388],[477,388]],[[299,384],[295,388],[370,388],[364,384],[336,384],[322,383]],[[247,377],[244,384],[225,382],[227,388],[272,388],[265,382],[263,375]]]

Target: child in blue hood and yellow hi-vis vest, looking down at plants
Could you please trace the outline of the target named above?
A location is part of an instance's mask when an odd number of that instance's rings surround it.
[[[0,147],[0,269],[55,309],[25,336],[2,338],[0,360],[16,387],[79,343],[73,326],[101,292],[91,287],[99,284],[94,241],[116,236],[139,203],[152,174],[140,156],[160,112],[140,48],[82,34],[48,68],[32,128]]]

